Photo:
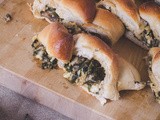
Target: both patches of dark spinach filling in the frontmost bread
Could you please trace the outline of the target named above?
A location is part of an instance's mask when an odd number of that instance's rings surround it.
[[[57,68],[58,60],[48,55],[45,47],[38,39],[34,39],[32,48],[33,56],[42,69]],[[71,61],[64,65],[64,69],[66,71],[64,77],[69,82],[84,86],[89,92],[99,94],[101,83],[105,77],[105,70],[97,60],[73,55]]]

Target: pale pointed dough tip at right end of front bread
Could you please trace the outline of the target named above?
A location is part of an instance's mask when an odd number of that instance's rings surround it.
[[[137,69],[123,58],[118,57],[118,61],[120,68],[118,90],[140,90],[144,88],[145,83],[141,82]]]

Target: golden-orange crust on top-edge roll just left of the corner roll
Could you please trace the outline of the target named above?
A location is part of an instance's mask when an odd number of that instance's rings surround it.
[[[116,4],[126,11],[126,13],[133,18],[136,23],[140,23],[138,8],[133,0],[115,0]]]

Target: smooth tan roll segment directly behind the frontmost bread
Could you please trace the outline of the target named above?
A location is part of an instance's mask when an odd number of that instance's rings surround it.
[[[111,44],[116,43],[125,31],[123,23],[114,14],[103,9],[97,9],[94,21],[84,24],[82,27],[86,31],[108,38],[107,40]]]

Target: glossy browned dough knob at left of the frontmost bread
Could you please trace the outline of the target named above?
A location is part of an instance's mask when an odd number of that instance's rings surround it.
[[[68,62],[72,56],[74,41],[67,29],[60,23],[46,26],[38,35],[38,40],[46,47],[50,56]]]

